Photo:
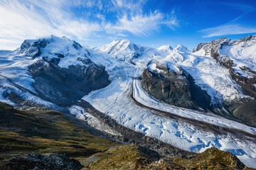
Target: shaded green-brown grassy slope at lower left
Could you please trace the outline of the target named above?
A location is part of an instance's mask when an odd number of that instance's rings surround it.
[[[81,158],[117,145],[95,137],[78,121],[57,111],[17,111],[0,103],[0,157],[54,152]]]

